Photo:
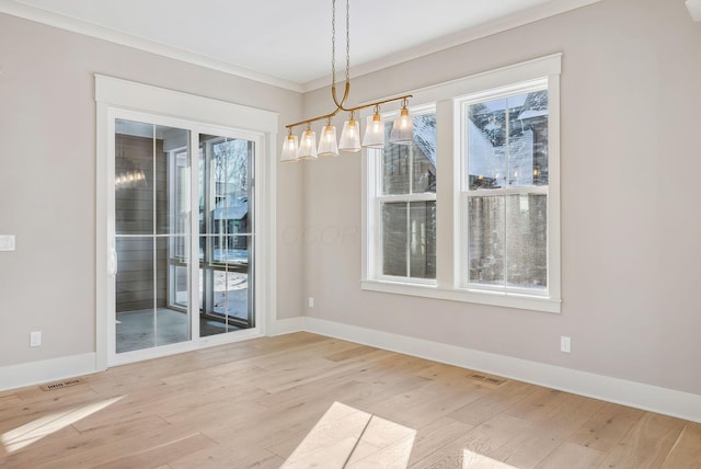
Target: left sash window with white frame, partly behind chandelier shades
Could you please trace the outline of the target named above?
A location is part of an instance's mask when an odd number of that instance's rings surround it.
[[[436,113],[413,110],[414,142],[376,150],[381,277],[436,278]],[[389,141],[391,122],[386,123]]]

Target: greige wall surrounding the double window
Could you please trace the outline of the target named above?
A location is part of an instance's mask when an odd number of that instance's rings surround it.
[[[303,243],[307,314],[701,394],[701,23],[683,0],[604,0],[359,77],[350,101],[559,52],[562,314],[360,290],[358,156],[304,167],[307,228],[327,233]],[[329,102],[307,94],[306,114]]]

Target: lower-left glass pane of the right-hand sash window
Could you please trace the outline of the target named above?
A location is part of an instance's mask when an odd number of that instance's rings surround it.
[[[470,283],[504,285],[505,197],[468,198]]]

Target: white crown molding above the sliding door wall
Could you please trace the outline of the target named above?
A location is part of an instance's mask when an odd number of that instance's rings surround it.
[[[202,54],[195,54],[187,50],[161,44],[154,41],[145,39],[142,37],[126,34],[105,26],[100,26],[85,21],[77,20],[48,10],[20,3],[14,0],[0,0],[0,13],[7,13],[12,16],[22,18],[24,20],[34,21],[36,23],[46,24],[58,27],[60,30],[70,31],[72,33],[82,34],[97,39],[107,41],[114,44],[131,47],[163,57],[181,60],[187,64],[221,71],[235,77],[254,80],[260,83],[272,84],[274,87],[287,90],[303,92],[302,85],[289,80],[283,80],[269,75],[260,73],[243,67],[228,64]]]

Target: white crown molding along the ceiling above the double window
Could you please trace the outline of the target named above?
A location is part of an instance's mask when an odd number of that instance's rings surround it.
[[[513,30],[536,21],[544,20],[561,13],[566,13],[578,8],[598,3],[601,0],[553,0],[531,9],[513,13],[510,15],[493,20],[491,22],[450,34],[438,39],[412,47],[391,56],[384,56],[350,68],[350,78],[372,73],[384,68],[393,67],[421,57],[439,53],[450,47],[456,47],[472,41],[481,39],[504,31]],[[699,0],[689,0],[699,1]],[[331,85],[331,75],[302,84],[302,91],[309,92]]]

